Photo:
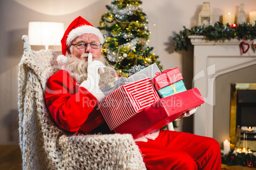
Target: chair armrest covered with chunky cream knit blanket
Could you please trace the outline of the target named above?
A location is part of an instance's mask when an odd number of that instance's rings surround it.
[[[71,169],[146,169],[131,134],[62,135],[59,144]]]

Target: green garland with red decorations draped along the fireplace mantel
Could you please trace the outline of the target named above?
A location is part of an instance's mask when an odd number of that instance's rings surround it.
[[[188,36],[204,36],[210,41],[223,40],[223,39],[256,39],[256,21],[253,26],[250,23],[236,24],[225,26],[221,22],[216,22],[214,25],[208,27],[204,26],[195,26],[191,29],[184,27],[184,30],[181,30],[179,34],[176,34],[173,37],[174,42],[173,46],[176,48],[175,51],[181,51],[185,49],[188,51],[188,46],[191,45],[190,39]]]

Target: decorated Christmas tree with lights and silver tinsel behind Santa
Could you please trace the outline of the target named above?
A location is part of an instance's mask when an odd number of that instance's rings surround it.
[[[107,5],[99,22],[105,42],[103,55],[117,70],[127,77],[129,69],[135,65],[148,66],[157,61],[158,56],[148,46],[148,19],[140,8],[138,0],[115,0]]]

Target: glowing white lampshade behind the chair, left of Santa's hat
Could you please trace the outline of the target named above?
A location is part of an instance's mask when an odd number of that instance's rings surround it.
[[[64,23],[29,22],[29,44],[34,46],[60,46],[64,34]]]

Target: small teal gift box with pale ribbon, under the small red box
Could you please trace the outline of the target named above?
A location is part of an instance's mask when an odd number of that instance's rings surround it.
[[[181,93],[187,91],[183,81],[174,82],[173,84],[166,86],[165,88],[159,89],[157,93],[160,98],[165,98],[167,96],[175,95],[176,93]]]

